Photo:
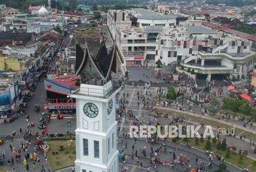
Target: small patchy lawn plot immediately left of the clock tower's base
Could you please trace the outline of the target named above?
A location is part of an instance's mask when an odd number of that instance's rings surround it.
[[[68,147],[68,140],[47,141],[47,143],[49,145],[48,161],[53,171],[64,167],[69,167],[75,164],[75,140],[73,140],[72,148]],[[60,151],[59,146],[64,146],[65,150]],[[53,152],[58,152],[58,155],[53,155]],[[71,156],[71,159],[69,156]]]

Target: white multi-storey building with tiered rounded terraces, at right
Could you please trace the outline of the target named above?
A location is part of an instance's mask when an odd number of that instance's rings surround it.
[[[217,32],[203,26],[173,28],[159,35],[156,61],[165,64],[180,61],[197,76],[211,80],[217,76],[247,76],[253,69],[255,53],[251,41]]]

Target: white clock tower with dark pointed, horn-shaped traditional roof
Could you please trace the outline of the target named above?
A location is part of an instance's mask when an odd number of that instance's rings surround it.
[[[116,58],[115,44],[108,50],[102,41],[95,56],[87,43],[84,51],[77,44],[75,75],[81,82],[70,95],[76,98],[76,172],[118,171],[115,102],[120,84],[111,82]]]

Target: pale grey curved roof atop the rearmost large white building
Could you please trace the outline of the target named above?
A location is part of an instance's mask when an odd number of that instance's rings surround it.
[[[180,17],[179,15],[160,15],[157,12],[146,10],[143,8],[131,9],[137,13],[137,17],[141,19],[174,19]]]

